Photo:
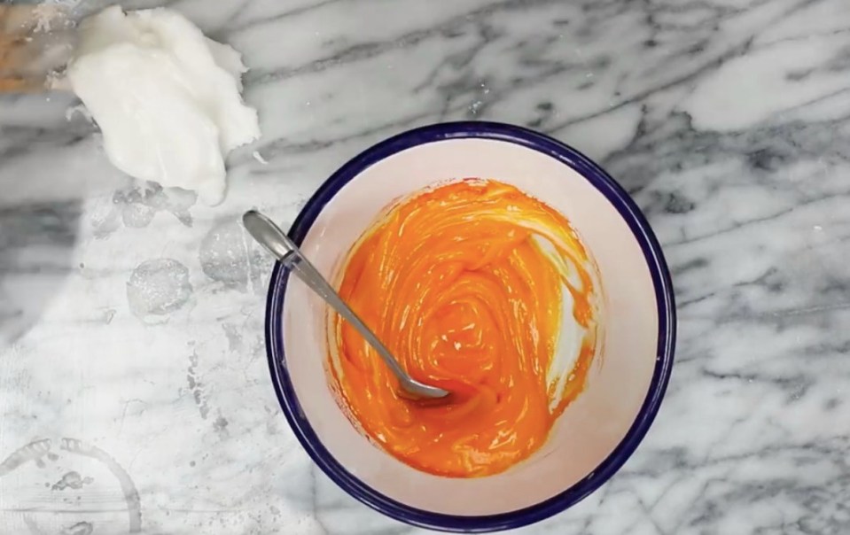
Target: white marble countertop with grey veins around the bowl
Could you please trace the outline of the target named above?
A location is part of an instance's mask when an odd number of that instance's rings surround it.
[[[850,3],[168,4],[252,67],[223,205],[129,184],[71,97],[0,97],[0,533],[417,531],[293,438],[238,214],[292,221],[371,143],[476,118],[606,167],[679,305],[643,444],[522,532],[850,532]]]

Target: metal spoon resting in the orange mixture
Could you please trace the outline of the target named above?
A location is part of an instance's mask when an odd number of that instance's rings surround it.
[[[369,345],[375,348],[381,359],[386,362],[386,366],[398,377],[405,393],[414,398],[432,399],[444,398],[448,395],[448,392],[441,388],[419,383],[410,377],[395,360],[393,353],[386,349],[386,346],[378,340],[375,333],[346,305],[339,294],[333,290],[331,284],[324,280],[322,274],[304,257],[298,245],[294,244],[274,221],[256,210],[249,210],[242,216],[242,222],[253,239],[275,255],[284,268],[289,269],[306,283],[312,291],[315,291],[319,297],[324,299],[328,305],[332,306],[339,315],[349,322],[366,339]]]

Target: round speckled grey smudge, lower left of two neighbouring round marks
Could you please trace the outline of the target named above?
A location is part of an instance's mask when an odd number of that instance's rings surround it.
[[[163,315],[183,306],[192,294],[189,269],[173,259],[146,260],[127,283],[127,301],[136,316]]]

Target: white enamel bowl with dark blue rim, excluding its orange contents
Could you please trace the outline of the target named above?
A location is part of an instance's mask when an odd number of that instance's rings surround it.
[[[464,479],[417,471],[373,445],[331,393],[324,305],[279,264],[269,285],[266,337],[286,419],[337,485],[405,523],[498,531],[571,507],[635,452],[667,387],[675,306],[658,241],[617,182],[564,143],[509,125],[438,124],[378,143],[324,182],[290,236],[331,276],[386,205],[464,177],[511,183],[557,209],[597,261],[604,294],[601,361],[541,450],[501,474]]]

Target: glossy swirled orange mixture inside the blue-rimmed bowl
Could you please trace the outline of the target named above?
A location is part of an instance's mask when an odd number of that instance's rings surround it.
[[[564,216],[508,184],[469,179],[402,199],[349,252],[339,293],[410,376],[452,393],[403,398],[336,314],[331,383],[355,425],[410,466],[501,472],[542,446],[584,387],[595,273]],[[563,322],[580,339],[566,341],[576,354],[558,370]]]

